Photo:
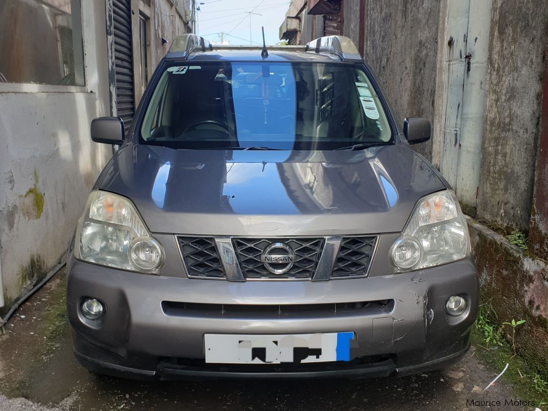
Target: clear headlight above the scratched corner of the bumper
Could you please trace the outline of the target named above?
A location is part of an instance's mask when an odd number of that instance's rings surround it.
[[[420,199],[390,258],[398,271],[410,271],[461,260],[469,253],[466,220],[454,192],[447,190]]]

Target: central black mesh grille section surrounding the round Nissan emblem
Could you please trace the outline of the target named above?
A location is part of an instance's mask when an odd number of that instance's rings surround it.
[[[295,253],[289,271],[275,274],[261,262],[264,249],[272,243],[287,244]],[[310,279],[316,271],[323,250],[324,238],[232,238],[240,268],[246,278],[253,279]]]

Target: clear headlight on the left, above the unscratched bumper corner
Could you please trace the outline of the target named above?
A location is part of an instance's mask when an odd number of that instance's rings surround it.
[[[122,270],[158,273],[162,246],[127,198],[92,191],[78,222],[75,257]]]

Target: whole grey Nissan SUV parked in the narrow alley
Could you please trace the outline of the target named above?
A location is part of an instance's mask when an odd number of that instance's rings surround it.
[[[478,277],[446,180],[350,39],[177,38],[69,250],[74,351],[144,379],[406,375],[469,348]]]

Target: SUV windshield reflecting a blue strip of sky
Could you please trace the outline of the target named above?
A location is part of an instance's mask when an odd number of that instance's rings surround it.
[[[392,141],[366,72],[342,63],[170,66],[140,130],[141,144],[196,150],[354,150]]]

